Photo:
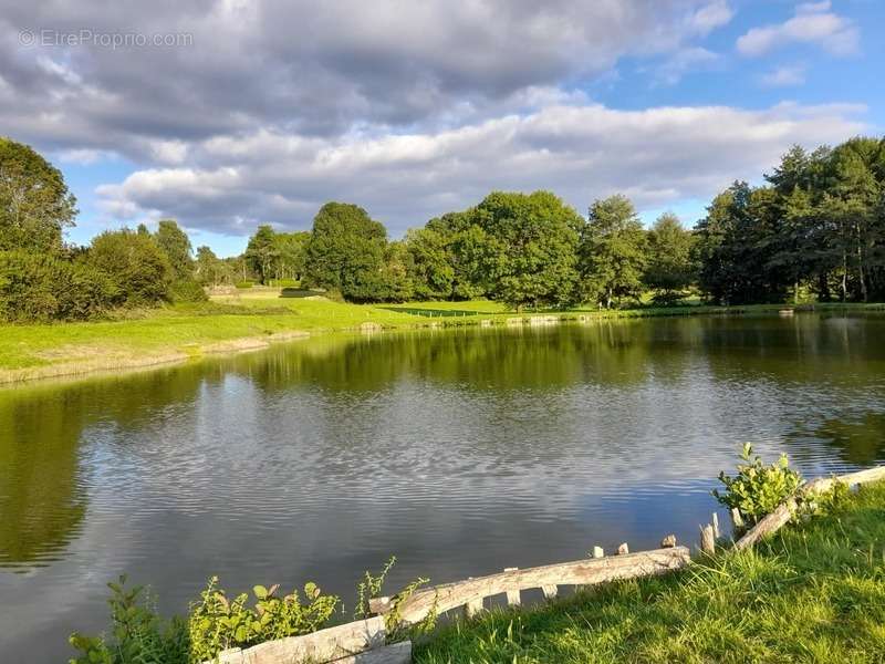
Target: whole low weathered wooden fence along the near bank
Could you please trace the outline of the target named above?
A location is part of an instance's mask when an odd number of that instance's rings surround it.
[[[787,525],[795,513],[799,502],[829,490],[837,481],[848,486],[885,479],[885,466],[850,473],[831,478],[819,478],[803,485],[773,512],[750,528],[737,542],[733,550],[752,547],[762,537],[773,533]],[[740,515],[732,512],[736,526],[741,526]],[[716,513],[710,523],[701,527],[700,548],[707,553],[716,551],[720,537]],[[594,547],[592,558],[548,564],[543,567],[506,568],[497,574],[478,577],[435,585],[414,592],[405,598],[373,598],[369,610],[377,614],[335,627],[329,627],[304,636],[290,636],[269,641],[240,650],[221,653],[218,664],[301,664],[303,662],[325,664],[407,664],[412,662],[412,643],[385,644],[387,632],[385,615],[395,611],[402,624],[415,624],[430,613],[445,613],[464,608],[467,615],[476,615],[485,609],[485,601],[496,595],[506,595],[509,604],[521,603],[521,592],[541,589],[546,599],[553,598],[561,585],[587,587],[610,581],[637,579],[666,574],[691,563],[687,547],[676,546],[676,537],[668,535],[660,549],[631,553],[626,543],[617,554],[605,556]],[[210,664],[206,662],[204,664]]]

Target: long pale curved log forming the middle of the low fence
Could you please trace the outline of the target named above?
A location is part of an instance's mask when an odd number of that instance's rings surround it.
[[[625,556],[584,559],[573,562],[527,568],[456,583],[428,588],[405,599],[398,606],[405,623],[416,623],[430,611],[445,613],[476,598],[544,585],[592,585],[617,579],[665,574],[690,563],[686,547],[656,549]]]

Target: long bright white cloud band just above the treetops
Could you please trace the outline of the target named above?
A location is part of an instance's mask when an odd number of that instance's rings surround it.
[[[363,205],[394,235],[491,189],[549,188],[580,210],[616,191],[642,208],[659,207],[757,178],[793,143],[835,143],[862,132],[854,120],[862,111],[589,104],[428,133],[320,138],[259,131],[195,144],[191,166],[140,170],[98,194],[115,215],[159,211],[235,235],[257,221],[309,228],[331,199]]]

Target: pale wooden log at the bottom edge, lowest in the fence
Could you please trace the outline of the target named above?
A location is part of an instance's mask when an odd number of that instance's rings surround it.
[[[225,664],[280,664],[280,662],[331,662],[384,645],[384,616],[376,615],[303,636],[267,641],[252,647],[225,651]],[[204,664],[214,664],[205,662]]]

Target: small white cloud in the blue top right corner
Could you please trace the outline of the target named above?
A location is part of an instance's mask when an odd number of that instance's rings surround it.
[[[854,22],[830,11],[829,2],[800,4],[783,23],[753,28],[738,38],[742,55],[758,56],[790,43],[815,44],[834,55],[852,55],[860,46]]]

